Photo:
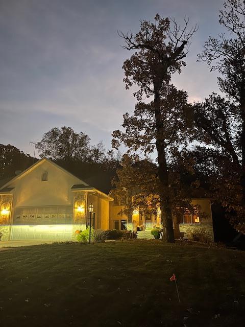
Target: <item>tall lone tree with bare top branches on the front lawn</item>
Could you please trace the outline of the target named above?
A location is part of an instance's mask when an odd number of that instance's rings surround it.
[[[187,44],[196,30],[192,28],[187,31],[187,26],[188,19],[185,19],[184,27],[181,28],[175,20],[161,18],[157,14],[155,22],[142,20],[140,31],[135,35],[132,32],[119,32],[125,41],[124,48],[135,51],[122,68],[125,72],[126,89],[133,84],[138,86],[134,96],[139,103],[134,116],[124,116],[126,131],[115,131],[112,144],[117,147],[121,142],[134,151],[141,148],[145,154],[156,148],[161,224],[163,239],[167,242],[174,242],[174,231],[166,149],[170,143],[174,144],[176,141],[174,133],[168,129],[168,123],[173,126],[175,122],[179,130],[181,121],[178,119],[178,109],[186,102],[184,92],[177,91],[173,85],[168,84],[171,75],[180,73],[181,67],[185,65],[183,59],[188,53]],[[154,99],[150,104],[145,104],[142,102],[143,96],[153,96]],[[173,99],[169,106],[166,98]]]

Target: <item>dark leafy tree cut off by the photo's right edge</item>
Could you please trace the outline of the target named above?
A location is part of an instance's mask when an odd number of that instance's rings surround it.
[[[196,103],[192,132],[209,146],[216,195],[229,211],[236,212],[233,224],[245,232],[245,2],[227,0],[219,24],[228,35],[209,37],[199,60],[220,73],[217,81],[226,98],[213,94]]]

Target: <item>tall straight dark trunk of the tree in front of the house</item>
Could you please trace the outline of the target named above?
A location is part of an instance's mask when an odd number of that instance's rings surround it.
[[[159,83],[161,85],[161,83]],[[162,139],[163,121],[160,107],[160,87],[154,86],[154,104],[156,120],[156,148],[158,158],[158,177],[160,181],[160,209],[161,224],[163,227],[163,239],[166,242],[174,243],[174,229],[171,209],[171,195],[169,190],[168,170],[165,155],[165,141]]]

